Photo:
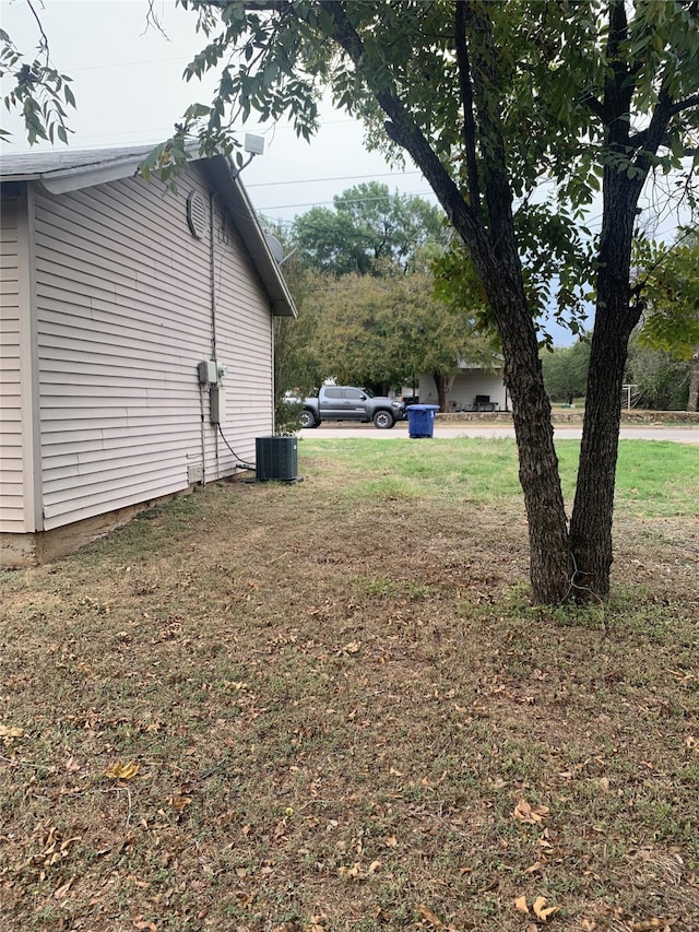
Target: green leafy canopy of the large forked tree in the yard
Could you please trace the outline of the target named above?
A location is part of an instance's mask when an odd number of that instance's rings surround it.
[[[232,128],[253,111],[262,120],[291,117],[297,133],[310,139],[318,127],[319,89],[328,86],[339,108],[365,119],[369,144],[392,158],[399,157],[396,144],[404,144],[396,138],[396,125],[386,119],[386,103],[395,98],[392,103],[410,115],[414,131],[429,141],[433,154],[477,207],[488,185],[483,156],[495,140],[479,141],[474,153],[478,164],[464,158],[464,129],[475,127],[469,126],[469,114],[464,127],[464,103],[470,102],[462,94],[463,62],[461,49],[454,47],[452,4],[179,2],[197,13],[198,28],[209,39],[188,66],[186,79],[220,69],[221,81],[213,103],[192,105],[165,144],[173,164],[181,158],[183,141],[192,134],[204,151],[224,149],[241,158]],[[461,5],[472,21],[483,15],[478,4]],[[549,306],[555,283],[557,311],[574,330],[584,315],[582,299],[594,275],[599,245],[584,214],[601,190],[605,167],[640,181],[649,168],[661,173],[682,168],[683,155],[697,144],[696,113],[676,103],[683,95],[696,94],[694,5],[638,4],[618,47],[611,40],[607,10],[608,4],[596,0],[490,3],[488,28],[483,31],[483,43],[497,48],[497,78],[507,91],[502,98],[498,87],[479,89],[479,106],[500,109],[476,116],[498,122],[498,134],[507,140],[503,154],[517,199],[514,222],[530,306],[533,312]],[[330,37],[334,44],[328,42]],[[475,59],[488,51],[484,47],[472,55]],[[608,69],[620,71],[629,63],[635,84],[629,85],[624,103],[631,108],[625,140],[631,144],[609,148],[605,132],[612,116],[611,102],[605,102]],[[664,128],[663,146],[654,140],[651,149],[645,142],[653,127],[641,127],[659,90],[673,113]],[[635,162],[640,153],[640,162]],[[342,234],[346,227],[340,217],[353,211],[348,204],[335,207],[332,221],[322,212],[308,217],[309,222],[322,219],[323,225]],[[495,231],[496,219],[490,217],[488,225]],[[366,250],[368,261],[370,249]],[[322,252],[318,258],[325,261]],[[354,258],[355,264],[345,264],[341,273],[365,271]]]

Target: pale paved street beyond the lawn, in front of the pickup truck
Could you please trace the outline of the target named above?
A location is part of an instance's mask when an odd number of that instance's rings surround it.
[[[554,437],[559,440],[579,440],[582,435],[581,427],[569,427],[564,424],[554,427]],[[313,439],[341,439],[343,437],[370,437],[374,440],[405,439],[408,436],[407,421],[399,422],[391,430],[377,430],[367,424],[332,423],[321,424],[310,430],[301,430],[300,437],[312,437]],[[474,424],[464,422],[462,424],[440,424],[439,418],[435,422],[435,437],[446,439],[448,437],[514,437],[511,426],[496,424]],[[672,425],[659,427],[628,427],[621,425],[620,438],[623,440],[673,440],[677,444],[699,444],[699,427],[684,427]]]

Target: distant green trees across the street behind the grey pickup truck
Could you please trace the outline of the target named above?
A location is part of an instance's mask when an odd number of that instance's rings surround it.
[[[487,302],[474,275],[453,275],[453,248],[438,208],[371,181],[345,190],[334,207],[315,207],[289,227],[266,222],[284,246],[284,273],[299,310],[276,321],[276,394],[306,394],[329,377],[377,392],[417,385],[420,373],[446,387],[458,361],[487,367],[498,350]],[[699,241],[637,244],[645,314],[630,343],[625,381],[650,410],[697,410]],[[590,335],[569,346],[545,342],[546,391],[555,403],[587,391]],[[553,349],[553,352],[552,352]],[[694,356],[694,361],[692,361]],[[694,404],[694,408],[691,406]]]

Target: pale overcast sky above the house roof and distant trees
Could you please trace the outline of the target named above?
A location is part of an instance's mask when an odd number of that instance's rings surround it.
[[[155,0],[154,7],[168,38],[146,28],[147,0],[45,0],[43,10],[37,0],[52,63],[73,79],[71,149],[162,142],[189,104],[210,103],[213,79],[208,85],[182,81],[185,66],[204,45],[196,15],[176,9],[174,0]],[[0,0],[0,12],[2,28],[32,54],[38,34],[24,0]],[[14,131],[14,151],[28,149],[21,122],[4,109],[2,127]],[[245,131],[265,138],[264,154],[242,180],[256,209],[268,216],[288,222],[313,204],[332,207],[333,196],[371,180],[435,201],[412,164],[392,170],[378,153],[366,151],[360,125],[331,108],[310,144],[287,123],[250,123]]]

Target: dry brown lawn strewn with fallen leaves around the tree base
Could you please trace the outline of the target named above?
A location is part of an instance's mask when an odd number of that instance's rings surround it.
[[[307,449],[0,577],[2,932],[699,930],[696,514],[535,610],[516,491]]]

